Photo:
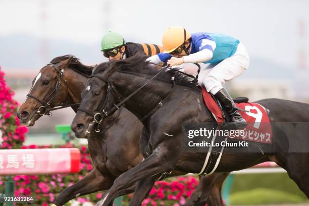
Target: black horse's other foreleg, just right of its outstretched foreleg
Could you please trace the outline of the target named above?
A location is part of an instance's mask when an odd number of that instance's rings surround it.
[[[144,198],[146,198],[156,182],[156,177],[148,177],[143,180],[139,180],[134,191],[134,196],[130,200],[129,206],[141,205]]]

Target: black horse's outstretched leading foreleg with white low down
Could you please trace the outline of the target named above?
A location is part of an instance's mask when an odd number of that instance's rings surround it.
[[[175,150],[157,148],[139,165],[120,175],[115,180],[111,189],[102,196],[101,200],[98,201],[96,205],[107,206],[115,196],[134,182],[165,171],[171,171],[178,160],[177,157],[178,154]]]

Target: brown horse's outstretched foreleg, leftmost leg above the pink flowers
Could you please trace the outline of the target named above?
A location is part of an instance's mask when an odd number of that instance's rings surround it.
[[[113,185],[114,180],[110,176],[103,176],[97,169],[93,168],[90,173],[77,183],[63,190],[56,198],[54,204],[57,206],[64,205],[75,197],[107,190]]]

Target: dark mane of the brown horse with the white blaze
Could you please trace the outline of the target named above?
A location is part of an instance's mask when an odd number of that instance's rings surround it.
[[[65,56],[56,57],[52,61],[50,61],[50,63],[58,64],[59,62],[67,60],[69,58],[72,58],[70,64],[68,65],[70,69],[74,70],[75,72],[85,77],[89,77],[91,75],[92,69],[94,68],[94,66],[87,66],[87,65],[82,64],[79,61],[79,59],[73,55],[65,55]]]

